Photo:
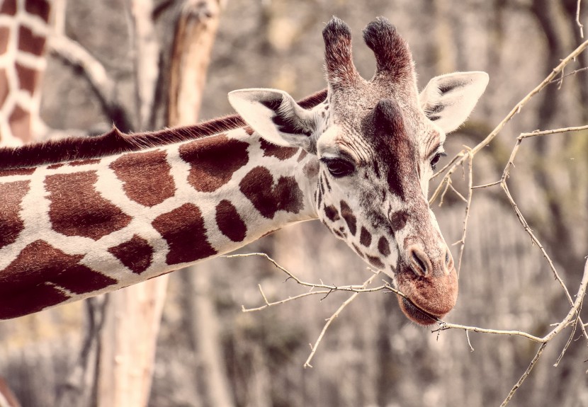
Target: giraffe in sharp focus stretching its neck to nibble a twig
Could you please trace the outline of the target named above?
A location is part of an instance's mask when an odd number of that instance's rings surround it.
[[[327,90],[229,93],[239,115],[138,134],[0,149],[0,318],[10,319],[234,251],[320,219],[406,294],[411,321],[456,304],[453,258],[426,200],[446,133],[473,110],[484,72],[431,79],[419,94],[407,43],[385,18],[323,30]],[[424,312],[423,312],[424,311]]]

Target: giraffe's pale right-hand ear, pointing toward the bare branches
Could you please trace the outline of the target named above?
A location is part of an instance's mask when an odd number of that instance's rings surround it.
[[[419,95],[421,108],[444,132],[453,132],[468,118],[488,84],[486,72],[436,76]]]

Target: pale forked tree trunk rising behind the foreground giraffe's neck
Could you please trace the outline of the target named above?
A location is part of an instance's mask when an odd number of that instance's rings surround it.
[[[154,25],[147,21],[152,14],[150,7],[152,3],[145,0],[134,0],[130,6],[141,127],[153,125],[156,81],[160,76],[159,45],[155,42]],[[219,14],[218,1],[188,0],[183,5],[171,56],[167,125],[197,120]],[[111,294],[101,336],[98,407],[147,406],[167,282],[166,275]],[[205,316],[210,314],[205,309],[203,312]],[[205,316],[203,319],[210,321]]]

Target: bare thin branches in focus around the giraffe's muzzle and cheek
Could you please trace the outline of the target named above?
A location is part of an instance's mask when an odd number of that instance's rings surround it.
[[[579,1],[578,1],[578,13],[579,13]],[[579,25],[580,30],[582,30],[582,25],[579,24],[579,21],[577,21],[577,23]],[[433,176],[433,178],[436,178],[437,176],[444,174],[443,178],[439,182],[439,185],[437,185],[436,189],[434,190],[434,193],[432,194],[431,199],[429,200],[429,204],[432,204],[433,202],[435,202],[435,200],[437,200],[439,198],[440,199],[439,205],[441,205],[443,202],[443,196],[448,192],[448,190],[451,190],[454,193],[456,193],[460,197],[460,199],[465,202],[465,216],[464,216],[464,220],[463,220],[463,233],[462,233],[461,239],[455,243],[455,244],[460,245],[460,253],[459,253],[459,258],[458,258],[458,272],[461,267],[461,262],[462,262],[462,258],[463,258],[463,251],[465,248],[465,238],[466,238],[466,234],[467,234],[467,230],[468,230],[468,219],[470,216],[470,207],[471,207],[472,200],[473,200],[474,190],[481,189],[481,188],[490,188],[490,187],[493,187],[496,185],[500,185],[502,187],[502,190],[504,190],[504,193],[507,195],[507,198],[508,198],[509,202],[511,203],[511,206],[513,207],[513,210],[516,213],[517,218],[519,219],[519,222],[524,227],[527,234],[531,237],[533,244],[538,246],[538,248],[541,250],[543,257],[548,262],[550,269],[552,270],[552,273],[555,276],[555,279],[561,285],[562,290],[565,293],[565,297],[567,298],[568,302],[570,302],[570,311],[568,311],[565,318],[563,318],[562,321],[560,321],[560,323],[556,323],[555,327],[550,332],[546,333],[545,336],[534,336],[534,335],[531,335],[530,333],[526,333],[523,331],[505,331],[505,330],[496,330],[496,329],[488,329],[488,328],[479,328],[477,326],[465,326],[465,325],[460,325],[460,324],[456,324],[456,323],[448,323],[446,321],[441,321],[439,319],[436,319],[436,322],[439,324],[439,327],[432,332],[436,332],[439,335],[439,333],[441,333],[441,331],[446,331],[448,329],[461,329],[461,330],[465,331],[466,336],[468,338],[468,343],[470,343],[469,336],[468,336],[468,333],[470,331],[477,332],[477,333],[487,333],[487,334],[492,334],[492,335],[520,336],[522,338],[532,340],[533,342],[541,343],[541,346],[538,348],[535,357],[533,357],[533,360],[531,360],[531,362],[528,365],[525,372],[521,375],[520,379],[516,382],[516,384],[514,384],[511,391],[509,391],[509,394],[507,395],[506,399],[504,399],[501,407],[507,406],[507,404],[509,403],[511,398],[514,396],[517,389],[519,389],[519,387],[523,384],[524,380],[528,377],[528,374],[531,373],[531,370],[533,369],[533,367],[535,367],[536,363],[538,362],[539,358],[541,357],[541,355],[543,353],[543,350],[545,349],[547,344],[550,342],[550,340],[552,340],[555,336],[557,336],[559,333],[561,333],[565,328],[567,328],[568,326],[572,326],[572,334],[570,336],[570,339],[567,340],[567,343],[565,344],[564,348],[562,349],[562,352],[560,353],[558,360],[555,362],[555,366],[558,365],[561,358],[565,354],[565,351],[567,350],[568,346],[570,345],[571,339],[572,339],[575,331],[578,328],[580,329],[580,331],[582,331],[584,338],[586,338],[586,340],[588,340],[588,334],[586,332],[586,326],[588,326],[588,323],[584,324],[582,322],[582,319],[580,319],[580,316],[579,316],[580,311],[582,309],[582,303],[584,301],[584,296],[586,294],[587,285],[588,285],[588,260],[586,262],[586,265],[584,266],[584,273],[582,275],[582,282],[579,285],[579,288],[578,288],[578,291],[577,291],[577,294],[576,294],[575,300],[574,300],[574,299],[572,299],[570,292],[567,290],[565,283],[562,281],[560,275],[558,274],[558,271],[555,269],[555,266],[553,265],[553,261],[548,256],[548,253],[545,251],[545,248],[543,248],[543,245],[541,244],[541,242],[533,234],[531,227],[529,227],[528,223],[526,222],[526,219],[524,218],[523,214],[519,210],[519,207],[516,205],[516,202],[514,201],[513,197],[511,196],[508,185],[507,185],[507,179],[509,178],[509,173],[511,171],[511,168],[514,166],[514,158],[516,156],[516,153],[519,151],[519,147],[521,145],[521,142],[524,139],[527,139],[529,137],[546,136],[549,134],[556,134],[556,133],[568,133],[568,132],[577,132],[577,131],[582,131],[582,130],[588,130],[588,125],[579,126],[579,127],[566,127],[563,129],[536,131],[536,132],[520,134],[519,137],[516,139],[516,144],[515,144],[513,151],[511,152],[511,156],[509,158],[509,161],[507,162],[507,165],[504,168],[504,171],[502,173],[502,178],[500,180],[497,180],[492,183],[487,183],[484,185],[473,185],[473,159],[474,159],[475,154],[477,154],[479,151],[481,151],[484,147],[487,147],[487,145],[490,144],[490,142],[492,142],[492,140],[495,137],[497,137],[497,135],[504,128],[504,126],[507,125],[507,123],[512,119],[512,117],[514,117],[514,115],[519,113],[521,111],[521,109],[524,108],[526,103],[528,103],[528,101],[530,101],[531,98],[533,98],[533,96],[535,96],[537,93],[539,93],[541,90],[543,90],[543,88],[545,88],[545,86],[548,86],[553,81],[562,81],[562,79],[565,78],[565,76],[562,76],[558,79],[555,79],[555,78],[558,75],[562,75],[563,69],[567,66],[567,64],[570,64],[570,62],[575,60],[575,58],[580,53],[582,53],[587,47],[588,47],[588,41],[585,41],[582,43],[582,45],[579,45],[579,47],[577,47],[576,50],[574,50],[572,53],[570,53],[570,55],[565,57],[565,59],[562,59],[561,63],[558,65],[558,67],[555,67],[555,69],[553,69],[553,71],[551,71],[551,73],[541,82],[541,84],[536,86],[536,88],[534,88],[519,103],[517,103],[514,106],[514,108],[512,108],[512,110],[509,112],[509,114],[506,117],[504,117],[502,122],[500,122],[499,125],[497,125],[497,127],[495,127],[494,130],[492,130],[492,132],[490,132],[490,134],[488,134],[488,136],[484,140],[482,140],[482,142],[480,142],[479,144],[477,144],[473,148],[465,147],[462,151],[460,151],[458,154],[456,154],[456,156],[454,156],[453,159],[446,166],[441,168],[441,170],[438,171]],[[583,69],[579,69],[577,71],[581,71],[581,70],[583,70]],[[577,71],[574,71],[572,74],[577,73]],[[464,173],[465,173],[464,166],[466,164],[468,165],[468,195],[467,195],[467,197],[464,197],[462,194],[458,193],[458,191],[453,187],[451,178],[453,176],[453,173],[455,173],[456,169],[460,166],[461,166],[461,168],[464,169]],[[261,297],[263,297],[263,299],[264,299],[264,305],[256,307],[256,308],[252,308],[252,309],[246,309],[245,307],[243,307],[244,312],[259,311],[259,310],[265,309],[269,306],[283,304],[285,302],[290,302],[295,299],[300,299],[300,298],[308,297],[310,295],[315,295],[315,294],[322,294],[324,296],[327,296],[331,292],[334,292],[334,291],[353,292],[353,294],[351,294],[351,296],[348,299],[346,299],[346,301],[343,304],[341,304],[341,306],[339,306],[337,311],[335,311],[334,314],[332,314],[332,316],[329,319],[327,319],[327,322],[324,324],[324,327],[322,328],[320,336],[315,341],[315,344],[311,345],[311,352],[310,352],[310,355],[304,364],[304,367],[312,367],[312,365],[310,365],[310,361],[312,360],[312,357],[315,355],[315,352],[317,351],[318,345],[320,345],[320,342],[321,342],[322,338],[324,337],[325,332],[329,328],[329,325],[332,323],[332,321],[335,318],[337,318],[337,316],[339,316],[341,311],[343,311],[343,309],[358,296],[358,294],[360,294],[362,292],[376,292],[376,291],[380,291],[380,290],[387,290],[389,292],[394,292],[397,295],[400,295],[402,297],[407,298],[407,296],[405,294],[403,294],[402,292],[400,292],[398,290],[395,290],[392,286],[388,285],[388,283],[385,283],[384,285],[380,285],[378,287],[368,288],[368,285],[370,285],[371,282],[373,282],[373,279],[376,277],[376,275],[378,275],[378,273],[375,273],[374,275],[372,275],[362,285],[345,285],[345,286],[337,287],[334,285],[325,285],[322,282],[320,282],[320,283],[304,282],[303,280],[300,280],[298,277],[296,277],[293,273],[290,273],[290,271],[286,270],[281,265],[276,263],[275,260],[273,260],[272,258],[267,256],[265,253],[247,253],[247,254],[240,254],[240,255],[233,255],[233,256],[225,256],[225,257],[245,257],[245,256],[261,256],[261,257],[266,258],[266,260],[273,263],[273,265],[276,266],[276,268],[278,268],[283,273],[288,275],[288,278],[286,278],[286,281],[294,280],[299,285],[310,287],[310,291],[303,293],[303,294],[296,295],[294,297],[288,297],[287,299],[282,299],[280,301],[269,302],[266,295],[264,294],[264,291],[261,289],[261,286],[260,286],[259,290],[261,292]],[[320,290],[315,290],[315,289],[320,289]],[[433,317],[431,316],[431,318],[433,318]],[[470,349],[473,350],[473,348],[471,347],[471,344],[470,344]]]

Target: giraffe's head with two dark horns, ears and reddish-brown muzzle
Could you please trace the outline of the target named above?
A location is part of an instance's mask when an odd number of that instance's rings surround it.
[[[488,76],[438,76],[419,94],[409,48],[385,18],[363,30],[377,63],[369,81],[354,67],[343,21],[332,18],[323,37],[329,88],[322,105],[305,110],[288,93],[270,89],[234,91],[230,102],[264,139],[317,156],[318,217],[392,276],[407,295],[399,302],[409,319],[434,323],[419,309],[447,314],[458,278],[429,209],[429,179],[444,155],[446,133],[468,117]]]

